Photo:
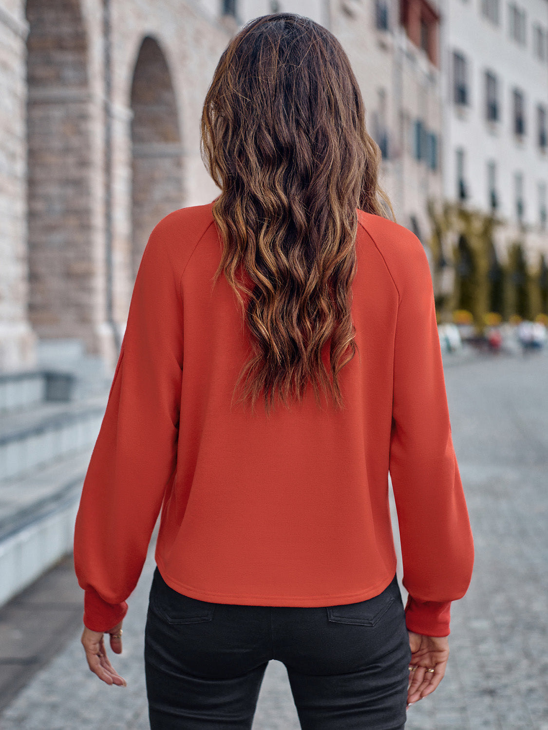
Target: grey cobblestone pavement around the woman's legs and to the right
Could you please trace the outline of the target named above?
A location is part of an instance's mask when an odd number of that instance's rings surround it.
[[[455,450],[476,545],[467,595],[452,607],[451,657],[406,730],[548,730],[548,356],[446,367]],[[127,688],[87,669],[80,630],[1,715],[2,730],[145,730],[142,632],[153,558],[130,602]],[[298,730],[286,669],[271,661],[254,730]]]

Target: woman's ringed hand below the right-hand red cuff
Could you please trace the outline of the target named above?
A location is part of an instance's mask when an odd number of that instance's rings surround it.
[[[411,647],[407,707],[431,694],[444,678],[449,659],[447,637],[427,637],[408,631]],[[433,669],[433,672],[427,672]]]

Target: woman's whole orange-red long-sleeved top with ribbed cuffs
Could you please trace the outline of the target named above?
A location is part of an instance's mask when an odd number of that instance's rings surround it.
[[[156,564],[202,601],[329,606],[381,593],[396,571],[390,472],[408,629],[449,634],[473,540],[452,443],[425,250],[358,210],[346,410],[306,398],[267,417],[231,411],[248,357],[206,205],[153,229],[75,525],[84,623],[123,618],[161,510]]]

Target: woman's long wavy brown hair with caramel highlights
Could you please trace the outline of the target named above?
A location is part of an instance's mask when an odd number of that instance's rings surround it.
[[[205,97],[201,153],[221,188],[213,218],[223,250],[213,285],[224,272],[251,345],[232,403],[242,385],[238,400],[250,399],[254,410],[263,396],[268,413],[276,395],[289,405],[312,383],[318,405],[321,388],[343,408],[338,374],[357,350],[356,209],[394,212],[335,36],[287,12],[243,26]]]

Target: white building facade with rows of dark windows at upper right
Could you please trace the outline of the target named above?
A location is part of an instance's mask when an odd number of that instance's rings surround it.
[[[548,0],[443,0],[444,196],[548,251]]]

